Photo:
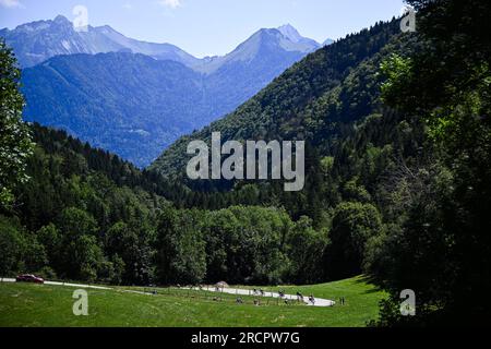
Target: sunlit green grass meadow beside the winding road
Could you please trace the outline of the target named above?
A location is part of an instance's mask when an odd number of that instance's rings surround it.
[[[214,298],[218,294],[177,289],[159,290],[157,296],[89,289],[88,316],[74,316],[73,288],[0,284],[0,326],[359,327],[376,318],[379,301],[385,297],[362,277],[282,289],[287,293],[301,291],[336,301],[345,297],[346,305],[278,305],[276,300],[264,299],[261,306],[254,306],[252,298],[246,297],[246,304],[239,305],[233,296],[224,296],[221,301],[216,301]]]

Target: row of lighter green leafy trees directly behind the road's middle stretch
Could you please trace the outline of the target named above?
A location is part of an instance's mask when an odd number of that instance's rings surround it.
[[[326,231],[282,209],[232,206],[216,212],[167,209],[157,236],[157,279],[165,284],[280,285],[322,277]]]

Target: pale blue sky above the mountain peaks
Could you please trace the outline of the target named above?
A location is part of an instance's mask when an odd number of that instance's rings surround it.
[[[85,5],[93,26],[196,56],[224,55],[263,27],[294,25],[318,41],[340,38],[398,15],[403,0],[0,0],[0,27],[53,19],[73,20]]]

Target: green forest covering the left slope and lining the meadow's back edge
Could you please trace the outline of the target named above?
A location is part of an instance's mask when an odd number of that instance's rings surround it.
[[[307,217],[292,221],[261,206],[177,209],[144,189],[149,174],[117,156],[63,131],[34,124],[31,132],[29,180],[0,218],[2,275],[195,285],[310,281],[320,273],[311,253],[322,253],[327,236]]]

